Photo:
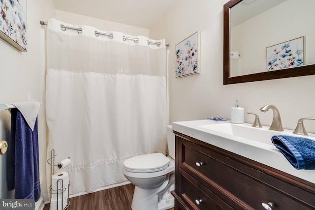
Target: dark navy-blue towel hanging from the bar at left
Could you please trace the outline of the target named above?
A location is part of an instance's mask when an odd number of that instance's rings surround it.
[[[8,146],[7,187],[15,198],[40,197],[37,119],[34,129],[18,109],[11,110],[11,137]]]

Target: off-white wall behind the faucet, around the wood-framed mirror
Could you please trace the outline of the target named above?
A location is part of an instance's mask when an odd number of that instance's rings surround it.
[[[169,121],[230,119],[236,98],[245,113],[259,114],[263,125],[269,126],[273,117],[271,110],[259,111],[266,104],[279,109],[287,129],[294,129],[299,118],[315,117],[313,75],[223,86],[223,5],[227,1],[177,0],[150,29],[151,38],[164,37],[170,44]],[[175,45],[197,30],[201,31],[201,73],[175,78]],[[245,114],[245,122],[253,120]],[[305,120],[304,125],[315,132],[315,120]]]

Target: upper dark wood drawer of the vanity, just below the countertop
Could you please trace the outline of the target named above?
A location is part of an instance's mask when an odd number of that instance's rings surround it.
[[[230,197],[257,210],[263,209],[263,202],[272,202],[273,209],[278,210],[315,208],[315,195],[304,189],[236,161],[228,153],[218,152],[219,149],[212,150],[185,139],[179,142],[179,167],[206,188],[229,192]]]

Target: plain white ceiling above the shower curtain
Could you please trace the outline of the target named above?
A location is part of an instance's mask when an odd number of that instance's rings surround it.
[[[58,10],[150,29],[175,0],[54,0]]]

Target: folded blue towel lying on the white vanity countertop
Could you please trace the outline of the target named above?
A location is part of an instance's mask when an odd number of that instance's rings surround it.
[[[296,169],[315,169],[315,141],[294,136],[273,136],[272,143]]]

